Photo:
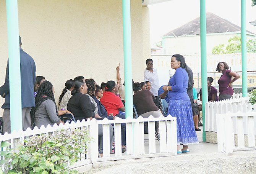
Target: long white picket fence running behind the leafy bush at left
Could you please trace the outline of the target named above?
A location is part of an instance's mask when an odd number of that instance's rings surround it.
[[[160,149],[156,150],[155,138],[155,122],[159,121],[159,134],[160,134]],[[148,122],[148,151],[145,150],[145,142],[147,140],[144,136],[144,122]],[[126,124],[126,152],[122,153],[122,139],[121,139],[121,124]],[[114,137],[115,137],[115,153],[110,154],[110,135],[109,124],[114,124]],[[98,125],[103,127],[103,157],[98,156]],[[26,131],[13,132],[11,134],[5,133],[0,136],[0,142],[10,141],[11,148],[16,147],[19,143],[24,143],[24,139],[39,134],[54,134],[55,131],[60,129],[86,129],[89,131],[90,137],[93,139],[87,149],[87,153],[81,153],[82,159],[70,168],[78,166],[93,164],[97,165],[99,161],[109,160],[123,160],[123,159],[136,159],[136,158],[149,158],[160,156],[177,155],[177,120],[176,117],[163,115],[159,118],[154,118],[152,115],[149,118],[138,117],[137,119],[115,119],[97,121],[96,119],[87,121],[71,122],[65,125],[56,124],[51,127],[48,125],[46,128],[42,126],[40,129],[37,127],[33,130],[27,129]],[[5,150],[3,148],[2,150]]]

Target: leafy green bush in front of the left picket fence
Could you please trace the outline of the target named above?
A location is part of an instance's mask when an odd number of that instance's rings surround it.
[[[8,174],[75,174],[78,172],[68,167],[81,158],[79,153],[86,153],[89,142],[89,132],[82,129],[29,137],[15,152],[8,148],[9,142],[2,142],[1,147],[7,149],[1,152],[1,156],[7,160],[0,163],[5,164]]]

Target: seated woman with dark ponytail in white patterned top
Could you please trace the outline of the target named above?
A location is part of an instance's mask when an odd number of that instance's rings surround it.
[[[71,91],[74,89],[74,80],[70,79],[66,81],[65,88],[62,90],[62,94],[60,94],[59,100],[59,108],[58,110],[67,110],[68,101],[71,98]]]

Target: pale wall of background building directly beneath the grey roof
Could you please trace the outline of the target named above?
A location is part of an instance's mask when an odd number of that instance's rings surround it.
[[[227,46],[228,39],[237,34],[221,34],[221,35],[207,35],[206,49],[207,54],[212,54],[212,48],[224,43]],[[247,39],[255,39],[254,36],[247,35]],[[200,52],[200,35],[194,36],[180,36],[164,38],[165,54],[201,54]]]

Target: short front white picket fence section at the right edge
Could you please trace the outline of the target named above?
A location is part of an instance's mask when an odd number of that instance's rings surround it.
[[[243,122],[247,120],[247,125]],[[219,152],[232,155],[233,151],[256,150],[255,147],[256,112],[227,112],[217,114],[217,140]],[[237,123],[234,125],[234,121]],[[248,147],[245,147],[245,126],[248,129]],[[234,130],[237,129],[237,147],[235,147]]]

